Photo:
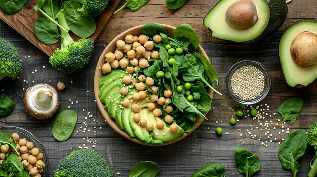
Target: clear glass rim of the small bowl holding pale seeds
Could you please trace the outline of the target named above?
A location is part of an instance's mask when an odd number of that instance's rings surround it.
[[[237,69],[239,69],[240,67],[245,66],[245,65],[253,65],[253,66],[259,68],[265,77],[265,81],[267,81],[267,84],[265,84],[266,87],[262,91],[261,95],[258,96],[256,99],[248,100],[248,101],[241,100],[240,98],[235,96],[235,94],[233,93],[233,91],[231,89],[231,81],[230,81],[232,74]],[[270,88],[271,88],[271,77],[269,75],[267,68],[259,61],[242,60],[242,61],[239,61],[239,62],[235,63],[234,65],[232,65],[230,67],[230,69],[228,70],[227,76],[226,76],[226,88],[227,88],[228,94],[231,96],[231,98],[234,101],[236,101],[238,103],[246,104],[246,105],[252,105],[252,104],[259,103],[260,101],[262,101],[266,97],[266,95],[268,94],[268,92],[270,91]]]

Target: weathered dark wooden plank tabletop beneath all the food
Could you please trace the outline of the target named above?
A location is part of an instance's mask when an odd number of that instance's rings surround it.
[[[279,39],[292,23],[300,19],[316,19],[317,1],[293,0],[288,4],[288,18],[283,26],[262,42],[251,45],[239,45],[211,37],[202,21],[216,1],[190,0],[177,11],[167,9],[164,2],[163,0],[151,0],[137,12],[125,9],[114,15],[98,38],[89,65],[83,71],[73,75],[58,73],[49,64],[47,55],[1,21],[0,37],[9,40],[19,49],[23,69],[19,79],[13,81],[4,78],[0,81],[0,94],[9,95],[16,103],[14,111],[9,116],[0,119],[0,126],[24,127],[42,141],[49,156],[50,176],[53,176],[53,171],[57,168],[60,158],[72,150],[77,150],[78,146],[83,146],[83,144],[92,148],[92,143],[83,140],[86,137],[89,140],[98,141],[93,149],[102,154],[113,167],[115,176],[128,176],[131,167],[141,160],[150,160],[159,164],[161,167],[159,176],[190,176],[196,169],[210,162],[223,164],[227,176],[242,176],[235,169],[234,150],[236,146],[243,146],[259,156],[261,170],[254,176],[291,176],[291,171],[282,169],[277,157],[279,142],[281,143],[286,136],[286,131],[306,130],[313,121],[317,120],[317,82],[301,89],[291,88],[285,83],[278,56]],[[128,28],[149,22],[173,26],[178,26],[181,23],[192,25],[218,72],[219,85],[215,87],[223,93],[223,96],[214,95],[212,109],[207,115],[208,121],[204,121],[185,139],[163,147],[142,146],[123,138],[104,121],[94,102],[95,67],[107,43]],[[268,116],[260,122],[246,117],[240,119],[236,125],[231,126],[229,118],[238,108],[227,94],[225,76],[234,63],[244,59],[260,61],[269,70],[272,79],[270,92],[261,103],[257,104],[269,106],[269,110],[265,110]],[[37,72],[32,74],[35,70]],[[65,142],[58,142],[52,136],[52,124],[55,117],[45,121],[33,119],[25,112],[22,101],[24,89],[33,84],[45,82],[56,87],[59,81],[66,85],[66,89],[59,92],[61,102],[59,112],[70,107],[70,109],[76,110],[79,115],[72,136]],[[283,123],[278,121],[281,117],[276,109],[283,101],[292,96],[302,97],[304,108],[293,125],[287,122],[282,128]],[[77,101],[78,103],[76,103]],[[88,114],[92,117],[89,117]],[[272,136],[270,138],[267,138],[264,130],[260,131],[260,124],[264,125],[265,121],[269,123],[271,129]],[[83,129],[80,128],[84,126],[84,122],[90,127],[90,132],[83,133]],[[96,129],[93,128],[94,126]],[[215,128],[218,126],[224,130],[224,134],[220,137],[215,134]],[[257,137],[253,139],[247,130]],[[283,130],[284,132],[282,132]],[[78,133],[76,133],[77,131]],[[94,135],[94,131],[96,131],[96,135]],[[262,143],[266,144],[267,147]],[[313,148],[309,147],[305,155],[299,159],[301,170],[297,176],[307,176],[309,162],[314,153]]]

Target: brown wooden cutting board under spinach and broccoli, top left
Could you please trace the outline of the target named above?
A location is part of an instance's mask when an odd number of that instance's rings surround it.
[[[121,1],[119,0],[109,0],[109,5],[106,11],[95,19],[96,31],[90,36],[93,41],[95,41],[102,32],[120,2]],[[0,19],[10,25],[14,30],[33,43],[37,48],[41,49],[48,56],[52,56],[56,48],[60,46],[60,42],[53,45],[45,45],[36,39],[33,33],[33,27],[36,19],[40,16],[39,12],[34,12],[33,7],[36,4],[37,0],[29,0],[19,12],[12,15],[5,14],[2,10],[0,10]],[[74,40],[79,39],[75,35],[72,35],[72,37]]]

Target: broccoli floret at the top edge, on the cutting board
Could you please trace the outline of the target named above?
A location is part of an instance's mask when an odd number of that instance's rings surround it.
[[[102,14],[107,6],[109,0],[76,0],[82,4],[82,8],[78,9],[82,15],[97,17]]]

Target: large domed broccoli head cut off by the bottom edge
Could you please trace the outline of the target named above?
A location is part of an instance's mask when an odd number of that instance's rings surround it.
[[[71,152],[60,159],[54,177],[113,177],[113,169],[100,154],[91,149]]]

